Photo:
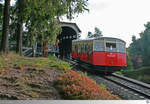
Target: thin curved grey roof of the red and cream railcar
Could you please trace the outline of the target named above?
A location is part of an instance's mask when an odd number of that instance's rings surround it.
[[[88,39],[77,39],[77,40],[73,40],[73,42],[79,42],[79,41],[89,41],[89,40],[109,40],[109,39],[115,39],[115,40],[119,40],[122,41],[124,43],[126,43],[124,40],[121,40],[119,38],[113,38],[113,37],[100,37],[100,38],[88,38]]]

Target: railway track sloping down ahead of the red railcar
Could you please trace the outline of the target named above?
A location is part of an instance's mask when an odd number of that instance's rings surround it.
[[[143,96],[143,98],[145,99],[150,99],[150,85],[146,83],[142,83],[117,74],[112,74],[111,76],[104,76],[104,78],[131,91],[136,92],[138,95]]]

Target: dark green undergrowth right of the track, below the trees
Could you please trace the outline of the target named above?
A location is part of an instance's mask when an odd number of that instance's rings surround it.
[[[133,71],[125,71],[123,75],[150,84],[150,67],[142,67]]]

